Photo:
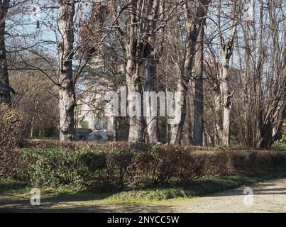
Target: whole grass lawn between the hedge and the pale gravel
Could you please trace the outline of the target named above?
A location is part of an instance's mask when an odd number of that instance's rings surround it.
[[[138,212],[173,210],[195,196],[204,196],[227,189],[286,177],[286,171],[263,172],[251,175],[201,178],[187,185],[157,187],[122,192],[119,190],[87,190],[69,187],[40,188],[41,205],[31,206],[31,186],[25,182],[0,182],[0,211],[84,211],[84,212]]]

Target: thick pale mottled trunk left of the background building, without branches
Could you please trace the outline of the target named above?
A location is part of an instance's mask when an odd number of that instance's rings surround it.
[[[60,140],[72,140],[75,137],[75,81],[73,79],[72,57],[74,43],[75,1],[60,0],[58,17],[60,34],[58,45],[60,55]]]

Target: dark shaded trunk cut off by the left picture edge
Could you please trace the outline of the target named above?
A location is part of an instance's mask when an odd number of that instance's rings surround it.
[[[0,1],[0,103],[11,103],[11,88],[6,60],[5,27],[9,9],[9,0]]]

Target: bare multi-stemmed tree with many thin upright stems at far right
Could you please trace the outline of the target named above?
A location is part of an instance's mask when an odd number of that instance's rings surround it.
[[[245,147],[270,148],[285,121],[285,15],[281,1],[246,4],[253,13],[243,18],[235,40],[239,77],[233,84],[233,136]]]

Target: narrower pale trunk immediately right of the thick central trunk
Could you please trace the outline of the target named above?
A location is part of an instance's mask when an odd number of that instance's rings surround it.
[[[146,60],[144,65],[145,92],[154,92],[156,77],[156,61]],[[148,133],[148,143],[158,143],[158,117],[152,116],[149,100],[146,112],[146,128]]]

